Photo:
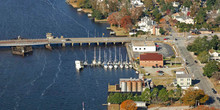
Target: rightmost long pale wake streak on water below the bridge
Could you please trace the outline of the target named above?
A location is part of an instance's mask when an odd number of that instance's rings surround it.
[[[58,52],[59,52],[59,51],[58,51]],[[61,71],[61,69],[60,69],[60,65],[61,65],[61,63],[62,63],[61,56],[62,56],[62,55],[61,55],[61,53],[59,52],[59,58],[58,58],[58,59],[59,59],[59,64],[58,64],[58,66],[57,66],[58,71],[56,72],[55,77],[53,78],[52,83],[50,83],[50,84],[43,90],[43,92],[41,93],[41,97],[43,97],[43,96],[45,95],[46,91],[56,83],[56,79],[58,78],[58,75],[59,75],[59,73],[60,73],[60,71]]]

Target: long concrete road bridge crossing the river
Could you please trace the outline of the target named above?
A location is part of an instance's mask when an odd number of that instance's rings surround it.
[[[35,45],[47,45],[50,44],[72,44],[78,43],[82,45],[83,43],[91,44],[96,43],[99,45],[100,43],[128,43],[132,40],[144,40],[144,38],[136,38],[136,37],[94,37],[94,38],[45,38],[45,39],[14,39],[14,40],[0,40],[0,47],[8,46],[35,46]]]

